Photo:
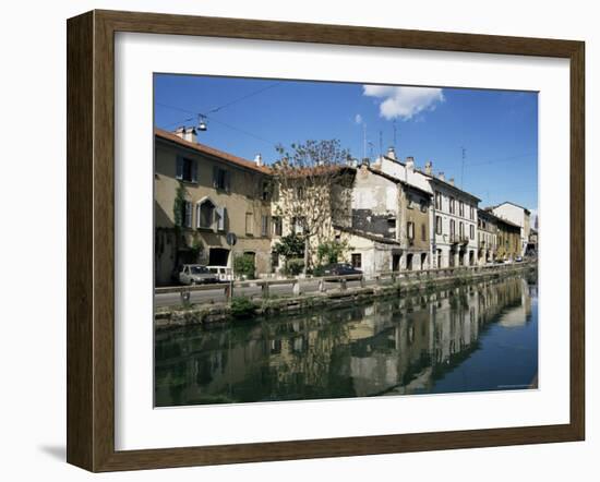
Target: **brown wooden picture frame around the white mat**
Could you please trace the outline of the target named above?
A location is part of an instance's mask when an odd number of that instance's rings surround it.
[[[571,420],[542,426],[115,449],[115,33],[564,58],[571,62]],[[68,21],[68,447],[91,471],[581,441],[585,436],[585,45],[339,25],[92,11]]]

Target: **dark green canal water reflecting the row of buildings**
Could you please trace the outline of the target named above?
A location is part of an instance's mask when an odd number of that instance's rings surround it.
[[[530,388],[535,277],[157,332],[157,407]]]

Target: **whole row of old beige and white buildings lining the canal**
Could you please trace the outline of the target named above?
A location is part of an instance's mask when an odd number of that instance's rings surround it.
[[[284,260],[274,246],[290,232],[302,234],[302,216],[283,215],[290,197],[261,156],[247,160],[200,144],[194,129],[157,129],[154,164],[157,285],[170,282],[183,263],[231,266],[237,255],[250,257],[257,276],[279,273]],[[323,242],[344,243],[339,261],[365,274],[482,265],[537,249],[527,208],[483,208],[453,179],[434,174],[431,161],[419,169],[389,149],[339,169],[345,176],[331,186],[328,216],[310,239],[310,264]],[[227,233],[236,234],[235,245]]]

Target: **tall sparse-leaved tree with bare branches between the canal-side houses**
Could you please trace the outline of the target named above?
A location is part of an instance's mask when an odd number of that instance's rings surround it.
[[[275,212],[291,232],[304,240],[303,273],[312,263],[315,242],[329,240],[334,224],[350,216],[350,189],[353,169],[347,167],[349,150],[337,140],[291,144],[291,150],[277,147],[274,164],[277,181]]]

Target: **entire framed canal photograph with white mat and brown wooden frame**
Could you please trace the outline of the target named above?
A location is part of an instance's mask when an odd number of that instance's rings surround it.
[[[68,22],[68,461],[580,441],[584,44]]]

